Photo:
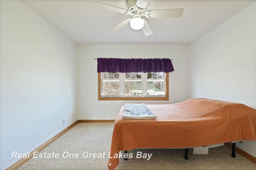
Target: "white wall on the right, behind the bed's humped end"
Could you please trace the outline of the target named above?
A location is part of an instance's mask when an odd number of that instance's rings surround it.
[[[189,45],[190,97],[256,108],[256,1]],[[256,141],[238,147],[256,157]]]

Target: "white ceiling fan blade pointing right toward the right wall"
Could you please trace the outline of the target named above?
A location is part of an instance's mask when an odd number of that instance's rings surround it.
[[[167,10],[150,10],[145,13],[147,18],[179,18],[182,16],[184,8]]]

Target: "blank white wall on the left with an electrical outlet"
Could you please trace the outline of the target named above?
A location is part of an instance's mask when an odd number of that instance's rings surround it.
[[[0,3],[2,170],[19,160],[13,151],[34,150],[78,114],[76,45],[22,2]]]

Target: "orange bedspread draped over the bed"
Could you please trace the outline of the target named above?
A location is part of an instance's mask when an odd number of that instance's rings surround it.
[[[256,140],[256,110],[239,103],[190,99],[147,105],[156,119],[122,119],[114,123],[108,168],[118,166],[114,154],[135,148],[186,148],[237,140]],[[112,158],[113,157],[113,158]]]

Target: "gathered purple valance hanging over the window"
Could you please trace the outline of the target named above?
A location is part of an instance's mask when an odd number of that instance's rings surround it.
[[[120,59],[97,58],[98,73],[147,73],[147,72],[172,72],[174,71],[170,59]]]

